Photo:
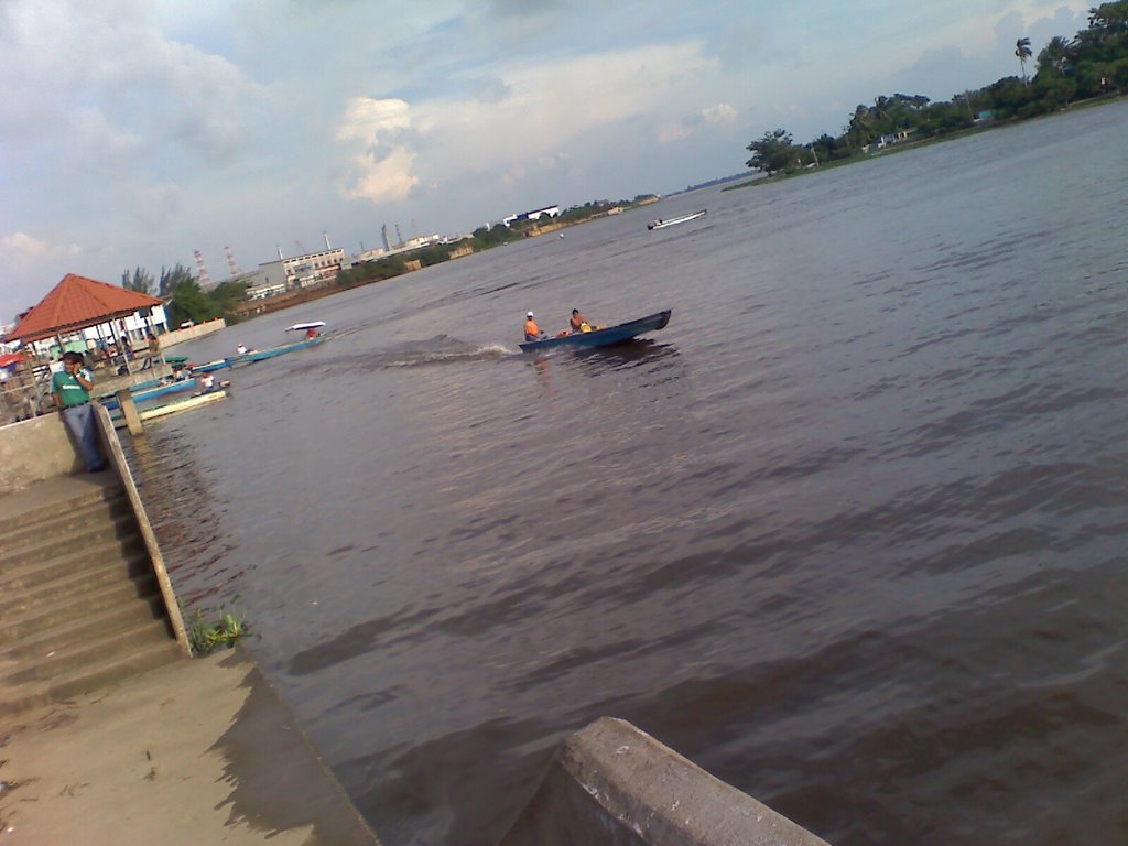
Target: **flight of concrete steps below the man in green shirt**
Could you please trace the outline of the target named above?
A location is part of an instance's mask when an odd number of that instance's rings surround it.
[[[10,496],[21,499],[0,510],[0,716],[183,656],[111,474]]]

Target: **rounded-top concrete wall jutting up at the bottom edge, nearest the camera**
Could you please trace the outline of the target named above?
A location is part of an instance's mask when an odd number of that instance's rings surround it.
[[[500,846],[827,846],[623,720],[557,751]]]

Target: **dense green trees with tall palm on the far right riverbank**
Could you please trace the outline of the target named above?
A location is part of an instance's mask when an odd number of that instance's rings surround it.
[[[1024,120],[1065,108],[1070,103],[1128,90],[1128,0],[1089,10],[1089,27],[1074,38],[1055,36],[1038,53],[1033,78],[1030,38],[1015,42],[1021,77],[1004,77],[951,100],[933,103],[923,95],[893,94],[860,105],[839,135],[823,133],[796,144],[784,129],[764,133],[746,149],[747,165],[768,176],[862,156],[884,139],[926,140],[967,130],[985,120]]]

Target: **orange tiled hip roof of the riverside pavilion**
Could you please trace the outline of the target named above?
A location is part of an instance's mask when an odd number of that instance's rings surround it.
[[[161,300],[147,293],[68,273],[38,306],[24,314],[7,337],[38,341],[160,305]]]

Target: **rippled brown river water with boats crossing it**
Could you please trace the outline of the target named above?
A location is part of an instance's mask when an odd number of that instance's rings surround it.
[[[601,715],[838,846],[1128,843],[1126,139],[702,190],[178,347],[332,336],[149,424],[174,583],[389,846],[496,841]],[[573,307],[673,317],[520,353]]]

